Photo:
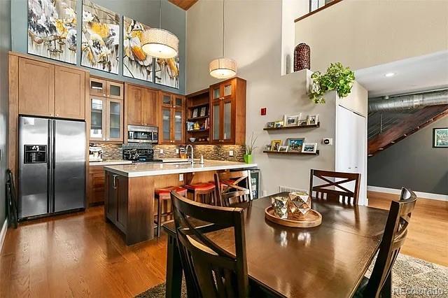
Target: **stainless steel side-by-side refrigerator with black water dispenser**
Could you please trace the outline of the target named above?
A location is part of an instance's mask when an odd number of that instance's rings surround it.
[[[85,122],[19,118],[18,218],[85,208]]]

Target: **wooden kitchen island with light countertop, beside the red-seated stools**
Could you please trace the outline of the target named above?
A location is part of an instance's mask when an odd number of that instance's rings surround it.
[[[204,164],[138,163],[104,166],[104,215],[132,245],[154,237],[154,190],[214,180],[214,173],[256,164],[205,160]],[[165,206],[165,208],[168,208]]]

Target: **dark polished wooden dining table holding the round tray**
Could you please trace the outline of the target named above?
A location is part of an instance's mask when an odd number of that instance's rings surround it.
[[[284,227],[265,220],[271,198],[244,208],[248,276],[269,295],[279,297],[351,297],[379,249],[388,211],[312,200],[322,215],[318,227]],[[166,297],[181,297],[182,265],[174,222],[168,235]],[[232,229],[208,235],[233,253]]]

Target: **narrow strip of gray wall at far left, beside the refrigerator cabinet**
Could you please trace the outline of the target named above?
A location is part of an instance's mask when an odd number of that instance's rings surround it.
[[[6,218],[6,134],[8,132],[8,50],[10,50],[10,0],[0,0],[0,229]]]

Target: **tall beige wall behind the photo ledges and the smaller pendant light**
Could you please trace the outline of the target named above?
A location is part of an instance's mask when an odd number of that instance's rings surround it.
[[[225,1],[226,56],[238,64],[238,76],[247,80],[246,136],[258,135],[254,162],[262,171],[262,190],[278,191],[279,185],[309,187],[309,170],[335,169],[334,146],[320,146],[319,156],[267,156],[261,147],[272,139],[305,137],[321,142],[335,137],[335,99],[325,105],[311,103],[306,94],[309,73],[281,76],[281,1]],[[207,88],[216,79],[209,62],[221,55],[222,1],[198,1],[187,13],[187,93]],[[260,108],[267,107],[267,115]],[[283,114],[318,113],[321,127],[267,133],[262,128]]]

